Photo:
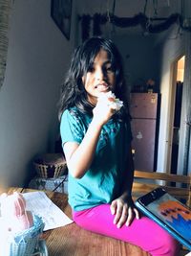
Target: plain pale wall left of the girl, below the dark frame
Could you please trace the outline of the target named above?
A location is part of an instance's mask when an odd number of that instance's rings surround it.
[[[73,9],[74,12],[74,9]],[[51,0],[12,1],[0,90],[0,186],[22,185],[37,153],[53,151],[60,84],[74,47],[51,17]]]

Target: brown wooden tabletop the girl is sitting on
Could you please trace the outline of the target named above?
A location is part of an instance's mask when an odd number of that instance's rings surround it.
[[[1,190],[0,193],[11,194],[13,191],[26,193],[34,190],[10,188]],[[49,191],[46,194],[72,218],[67,195]],[[49,256],[149,256],[138,246],[83,230],[75,223],[45,231],[42,237],[46,240]]]

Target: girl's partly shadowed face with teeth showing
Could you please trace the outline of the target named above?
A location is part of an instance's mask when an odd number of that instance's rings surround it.
[[[96,105],[97,97],[101,92],[115,91],[116,75],[106,51],[99,51],[93,66],[89,68],[86,76],[82,77],[82,81],[88,100],[93,105]]]

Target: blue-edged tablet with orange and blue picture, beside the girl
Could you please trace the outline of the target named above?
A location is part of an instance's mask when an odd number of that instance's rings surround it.
[[[138,198],[138,209],[191,250],[191,209],[158,188]]]

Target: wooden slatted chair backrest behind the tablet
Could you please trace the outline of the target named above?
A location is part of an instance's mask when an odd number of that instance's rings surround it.
[[[191,207],[191,176],[169,175],[156,172],[135,171],[132,195],[134,199],[163,186],[175,198]]]

